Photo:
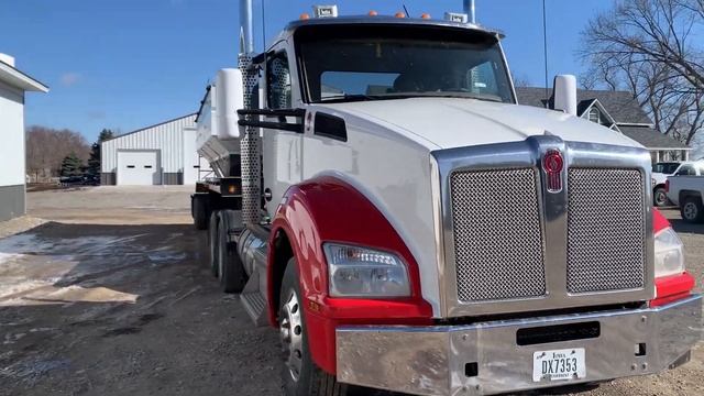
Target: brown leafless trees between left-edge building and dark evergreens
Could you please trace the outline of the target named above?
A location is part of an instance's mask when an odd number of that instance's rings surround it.
[[[78,132],[36,125],[26,132],[26,168],[35,179],[58,176],[62,161],[70,153],[82,162],[90,155],[90,146]]]

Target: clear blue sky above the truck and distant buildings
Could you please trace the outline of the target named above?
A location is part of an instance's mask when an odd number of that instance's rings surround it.
[[[254,0],[274,36],[316,2]],[[330,3],[332,1],[322,1]],[[547,0],[550,80],[579,74],[580,31],[613,0]],[[462,0],[338,0],[343,14],[461,11]],[[542,86],[542,0],[476,0],[477,21],[504,31],[514,75]],[[217,69],[237,64],[238,0],[0,0],[0,53],[48,85],[30,94],[26,124],[68,128],[94,141],[101,129],[129,132],[198,109]],[[12,33],[8,33],[12,32]]]

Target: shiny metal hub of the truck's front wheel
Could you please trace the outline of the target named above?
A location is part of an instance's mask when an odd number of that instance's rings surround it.
[[[300,316],[300,305],[296,292],[292,290],[288,299],[282,307],[282,318],[279,319],[279,338],[284,352],[284,362],[294,381],[300,377],[302,366],[302,322]]]

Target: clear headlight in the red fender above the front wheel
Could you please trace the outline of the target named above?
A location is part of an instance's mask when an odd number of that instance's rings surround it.
[[[408,271],[400,257],[388,252],[323,244],[332,297],[408,297]]]

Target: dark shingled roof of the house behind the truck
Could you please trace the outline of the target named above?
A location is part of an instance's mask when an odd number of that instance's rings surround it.
[[[544,88],[517,87],[516,95],[520,105],[544,108],[548,100],[552,103],[552,96],[546,98]],[[552,95],[551,91],[550,95]],[[578,89],[578,116],[581,117],[596,99],[617,124],[652,124],[648,114],[638,106],[638,101],[628,91]]]

